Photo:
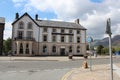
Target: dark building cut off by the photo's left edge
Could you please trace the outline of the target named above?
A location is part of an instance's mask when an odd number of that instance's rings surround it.
[[[3,53],[3,34],[4,34],[5,18],[0,17],[0,55]]]

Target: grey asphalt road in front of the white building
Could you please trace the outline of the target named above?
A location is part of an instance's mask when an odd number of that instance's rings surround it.
[[[114,63],[119,63],[114,58]],[[60,80],[62,76],[73,68],[79,68],[83,60],[75,61],[1,61],[0,80]],[[89,64],[90,60],[87,59]],[[109,64],[109,59],[92,59],[92,66]]]

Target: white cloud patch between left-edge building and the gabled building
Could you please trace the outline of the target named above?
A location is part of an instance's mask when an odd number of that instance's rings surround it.
[[[12,37],[12,22],[6,22],[5,23],[5,29],[4,29],[4,39],[11,38]]]

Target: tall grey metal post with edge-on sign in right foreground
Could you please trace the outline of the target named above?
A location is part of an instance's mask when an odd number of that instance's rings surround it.
[[[110,18],[107,19],[106,34],[109,35],[109,54],[110,54],[110,80],[113,80],[113,59],[112,59],[112,45],[111,45],[111,21]]]

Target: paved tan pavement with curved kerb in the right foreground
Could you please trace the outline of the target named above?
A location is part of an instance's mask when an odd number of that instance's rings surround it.
[[[119,67],[118,67],[119,65]],[[73,69],[66,73],[61,80],[111,80],[110,65],[94,65],[84,69]],[[120,80],[120,64],[113,64],[113,80]]]

